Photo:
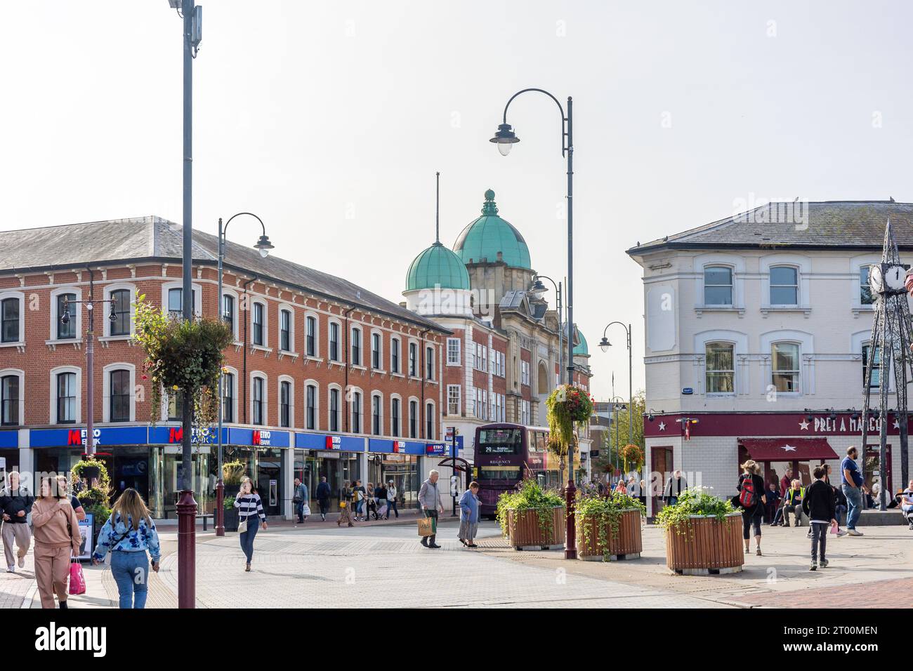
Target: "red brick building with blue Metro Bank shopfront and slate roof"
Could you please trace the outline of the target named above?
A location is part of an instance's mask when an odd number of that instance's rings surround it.
[[[67,472],[82,454],[87,302],[95,304],[97,449],[115,491],[138,488],[172,516],[184,465],[170,427],[180,400],[152,408],[132,313],[144,295],[182,309],[181,227],[159,217],[0,233],[0,457],[6,470]],[[194,231],[194,312],[218,314],[215,236]],[[60,320],[65,300],[70,320]],[[367,289],[226,244],[225,458],[241,459],[272,515],[291,481],[393,479],[406,506],[443,451],[445,327]],[[110,312],[113,310],[113,320]],[[152,425],[154,420],[155,425]],[[194,491],[211,509],[215,427],[194,450]],[[76,436],[76,439],[74,439]],[[425,464],[424,462],[428,463]]]

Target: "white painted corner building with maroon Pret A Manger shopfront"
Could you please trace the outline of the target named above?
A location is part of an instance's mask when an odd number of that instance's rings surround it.
[[[888,218],[913,261],[913,204],[893,201],[765,205],[628,250],[644,269],[647,467],[679,468],[720,496],[735,494],[749,455],[765,479],[792,464],[807,481],[822,462],[839,477],[845,448],[861,437],[868,267],[880,261]],[[897,491],[906,483],[890,421]]]

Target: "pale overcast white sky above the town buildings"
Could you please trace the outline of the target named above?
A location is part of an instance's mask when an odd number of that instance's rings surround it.
[[[194,228],[259,215],[274,253],[394,301],[435,235],[496,192],[563,278],[561,115],[573,97],[573,305],[593,393],[644,386],[637,241],[770,200],[909,201],[903,2],[204,0]],[[182,24],[167,0],[5,3],[0,229],[182,217]],[[253,244],[254,220],[229,238]],[[548,295],[550,299],[553,292]]]

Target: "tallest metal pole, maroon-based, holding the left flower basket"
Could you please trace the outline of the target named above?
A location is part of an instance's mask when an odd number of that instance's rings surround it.
[[[194,319],[193,269],[193,54],[194,0],[182,0],[184,14],[184,282],[181,301],[184,320]],[[182,436],[181,493],[177,502],[178,514],[178,608],[194,608],[196,605],[196,501],[193,491],[193,454],[191,438],[193,432],[194,400],[184,390],[184,422]]]

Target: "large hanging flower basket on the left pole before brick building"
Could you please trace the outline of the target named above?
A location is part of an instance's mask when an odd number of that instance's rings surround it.
[[[172,319],[144,295],[137,298],[135,307],[133,339],[146,354],[142,370],[152,387],[152,424],[160,412],[163,390],[169,398],[184,393],[184,403],[193,403],[194,426],[212,424],[223,351],[234,340],[231,328],[223,320]]]

